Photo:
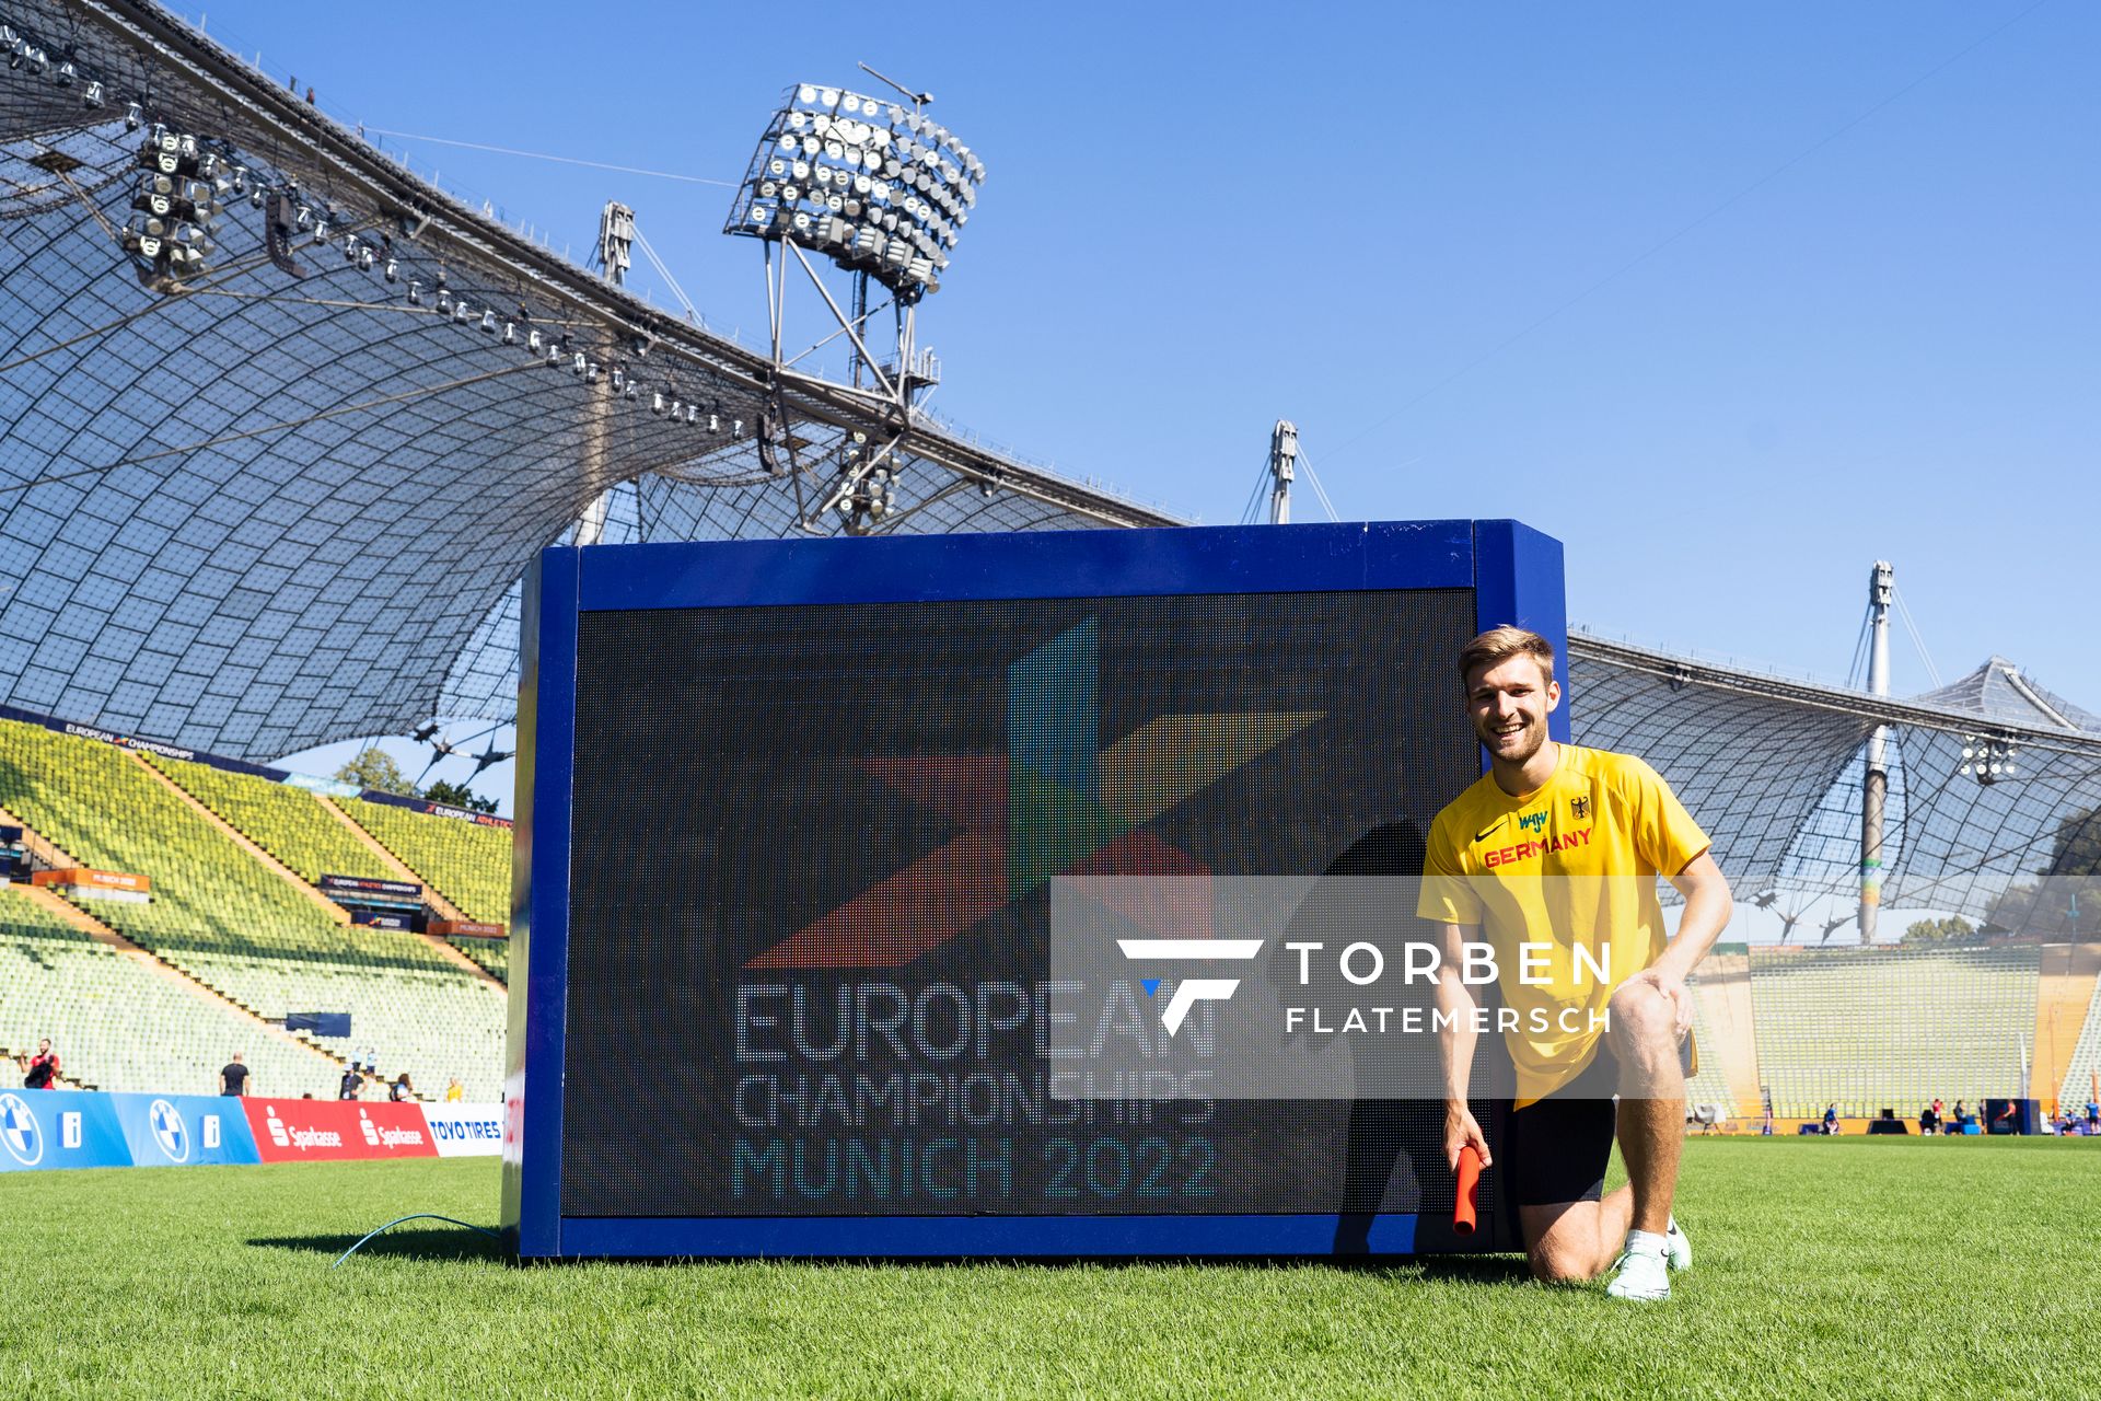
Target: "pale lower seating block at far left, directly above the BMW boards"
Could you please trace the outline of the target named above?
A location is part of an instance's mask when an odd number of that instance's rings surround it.
[[[95,1090],[212,1094],[240,1050],[265,1094],[330,1094],[330,1063],[0,888],[0,1048],[48,1036]]]

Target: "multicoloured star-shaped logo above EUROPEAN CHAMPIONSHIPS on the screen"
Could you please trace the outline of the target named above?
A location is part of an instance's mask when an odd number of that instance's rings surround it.
[[[1053,876],[1208,876],[1143,825],[1322,718],[1319,710],[1164,714],[1101,741],[1093,618],[1006,668],[1006,752],[870,758],[864,769],[962,830],[746,968],[897,968]],[[1141,928],[1208,939],[1210,907],[1105,886]],[[1116,895],[1124,891],[1124,895]]]

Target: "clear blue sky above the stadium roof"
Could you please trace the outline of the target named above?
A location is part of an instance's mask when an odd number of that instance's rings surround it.
[[[1887,557],[1943,676],[2000,651],[2101,708],[2101,8],[887,15],[206,27],[370,128],[723,181],[782,88],[866,59],[990,166],[922,315],[981,435],[1219,523],[1294,418],[1345,517],[1521,517],[1576,620],[1826,678]],[[727,189],[384,141],[578,260],[626,200],[710,323],[765,323]]]

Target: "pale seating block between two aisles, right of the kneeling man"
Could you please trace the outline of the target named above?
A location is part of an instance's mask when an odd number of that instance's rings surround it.
[[[1750,952],[1759,1071],[1780,1117],[2017,1094],[2036,945]]]

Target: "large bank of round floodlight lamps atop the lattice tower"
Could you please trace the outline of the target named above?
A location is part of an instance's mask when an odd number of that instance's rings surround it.
[[[899,302],[939,290],[985,162],[899,103],[803,84],[767,124],[723,233],[794,242]]]

